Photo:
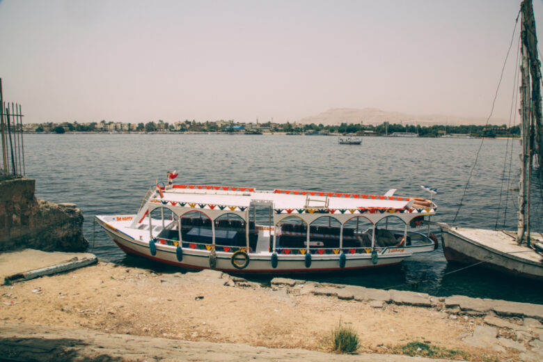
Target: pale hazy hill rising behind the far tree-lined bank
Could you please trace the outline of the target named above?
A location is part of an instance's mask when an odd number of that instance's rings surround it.
[[[361,123],[364,125],[380,125],[383,122],[402,123],[403,125],[485,125],[486,118],[482,117],[457,117],[433,115],[411,115],[400,112],[382,111],[376,108],[336,108],[324,111],[317,116],[301,118],[297,123],[315,125],[340,125],[341,123]],[[491,119],[492,125],[503,125],[507,121],[502,119]]]

